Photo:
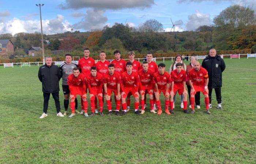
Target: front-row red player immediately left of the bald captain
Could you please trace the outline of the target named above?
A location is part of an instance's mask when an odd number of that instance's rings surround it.
[[[173,97],[174,94],[176,94],[176,91],[178,91],[179,95],[183,95],[183,112],[184,113],[189,113],[187,110],[187,96],[188,92],[186,90],[186,81],[187,81],[187,73],[185,70],[182,69],[182,63],[177,63],[176,64],[176,69],[173,70],[170,74],[171,77],[171,87],[170,87],[170,113],[174,114],[173,112]]]

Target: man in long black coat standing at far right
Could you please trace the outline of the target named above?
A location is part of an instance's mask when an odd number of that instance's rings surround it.
[[[209,76],[209,100],[210,104],[209,107],[211,108],[211,93],[212,89],[214,88],[217,102],[218,102],[218,109],[222,109],[221,106],[221,87],[222,87],[222,72],[225,70],[226,65],[224,60],[221,56],[216,55],[216,50],[211,49],[210,55],[208,55],[202,62],[202,67],[204,67],[208,71]]]

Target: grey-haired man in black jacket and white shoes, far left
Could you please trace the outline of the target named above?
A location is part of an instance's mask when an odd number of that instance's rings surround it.
[[[40,118],[47,117],[48,102],[50,94],[55,101],[57,110],[57,116],[64,117],[60,112],[60,100],[59,100],[59,81],[61,78],[61,72],[58,66],[52,65],[52,57],[46,56],[45,65],[39,67],[38,78],[42,82],[42,91],[44,95],[44,113]]]

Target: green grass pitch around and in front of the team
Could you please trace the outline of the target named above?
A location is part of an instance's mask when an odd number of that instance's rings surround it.
[[[195,114],[182,113],[177,97],[172,116],[108,117],[105,106],[104,117],[89,118],[56,117],[51,97],[44,119],[38,67],[1,66],[0,163],[255,163],[256,59],[225,62],[223,110],[213,91],[210,115],[202,94]],[[63,112],[62,92],[60,100]]]

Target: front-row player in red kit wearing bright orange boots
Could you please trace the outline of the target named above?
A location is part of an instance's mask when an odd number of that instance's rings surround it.
[[[168,108],[169,108],[169,87],[170,87],[170,74],[165,71],[165,64],[160,63],[158,65],[158,72],[154,74],[153,77],[153,83],[155,84],[155,99],[156,99],[156,104],[158,107],[158,112],[157,114],[160,115],[162,114],[162,109],[161,109],[161,103],[160,103],[160,94],[163,92],[163,95],[165,95],[165,113],[170,114]]]

